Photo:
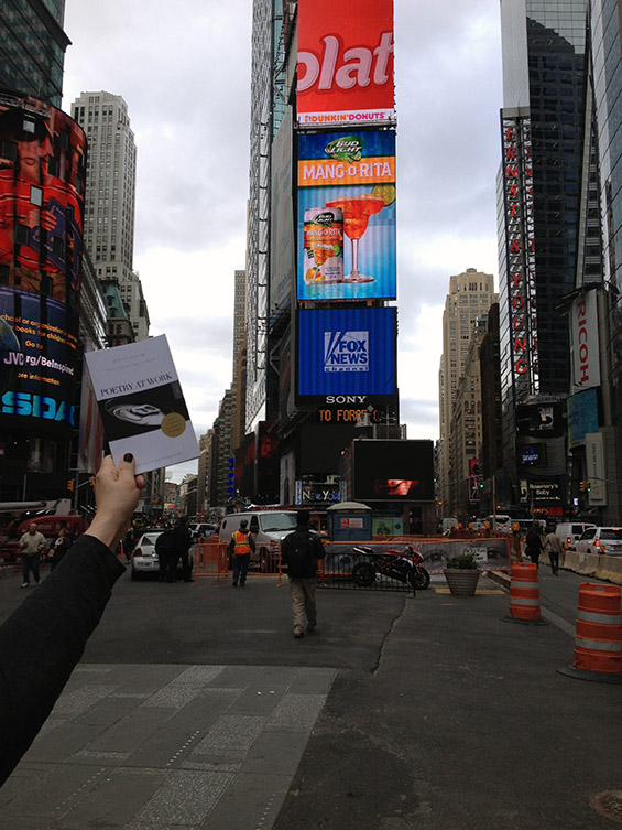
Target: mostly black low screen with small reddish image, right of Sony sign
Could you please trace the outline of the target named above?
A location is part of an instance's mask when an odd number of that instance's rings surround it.
[[[354,441],[352,449],[354,499],[434,499],[432,441]]]

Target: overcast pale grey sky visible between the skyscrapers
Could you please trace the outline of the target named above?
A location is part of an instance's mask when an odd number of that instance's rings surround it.
[[[401,421],[438,438],[449,276],[496,279],[499,0],[394,0]],[[197,435],[231,382],[233,271],[245,266],[252,0],[66,0],[64,109],[128,104],[138,147],[134,269]],[[168,471],[181,481],[196,463]]]

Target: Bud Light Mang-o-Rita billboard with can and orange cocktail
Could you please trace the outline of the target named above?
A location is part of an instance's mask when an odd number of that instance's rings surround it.
[[[396,295],[395,133],[299,133],[298,301]]]

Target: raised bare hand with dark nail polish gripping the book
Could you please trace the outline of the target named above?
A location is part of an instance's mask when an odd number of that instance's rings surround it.
[[[128,531],[145,485],[144,476],[134,475],[134,470],[135,461],[131,453],[126,453],[118,466],[112,456],[107,455],[95,479],[97,514],[86,535],[95,536],[111,551],[117,549]]]

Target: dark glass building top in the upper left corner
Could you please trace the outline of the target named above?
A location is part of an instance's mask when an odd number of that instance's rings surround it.
[[[65,0],[3,0],[0,4],[0,86],[61,107]]]

